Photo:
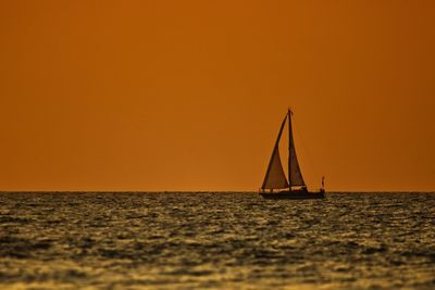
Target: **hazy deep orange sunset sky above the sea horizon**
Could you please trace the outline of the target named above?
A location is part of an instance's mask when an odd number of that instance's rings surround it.
[[[1,1],[0,190],[435,190],[435,2]],[[284,153],[283,153],[284,154]]]

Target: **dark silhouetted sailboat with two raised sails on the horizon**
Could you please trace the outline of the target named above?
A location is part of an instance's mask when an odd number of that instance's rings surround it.
[[[293,112],[288,109],[283,124],[281,125],[278,137],[272,151],[271,161],[269,162],[263,185],[260,189],[260,196],[265,199],[324,199],[324,177],[322,177],[322,188],[318,192],[309,192],[303,181],[302,172],[300,171],[298,157],[296,155],[295,142],[291,128]],[[279,157],[279,140],[283,135],[284,127],[288,121],[288,179],[284,173]]]

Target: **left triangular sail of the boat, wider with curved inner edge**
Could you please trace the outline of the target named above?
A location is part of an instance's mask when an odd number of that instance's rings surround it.
[[[279,157],[279,139],[283,134],[284,125],[287,121],[285,116],[283,124],[281,125],[278,138],[276,139],[275,147],[272,152],[271,161],[269,162],[268,171],[265,173],[262,189],[282,189],[288,188],[288,181],[285,176],[283,165]]]

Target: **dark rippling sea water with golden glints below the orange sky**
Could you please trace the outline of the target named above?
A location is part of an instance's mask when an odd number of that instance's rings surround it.
[[[0,193],[1,289],[435,289],[434,193]]]

